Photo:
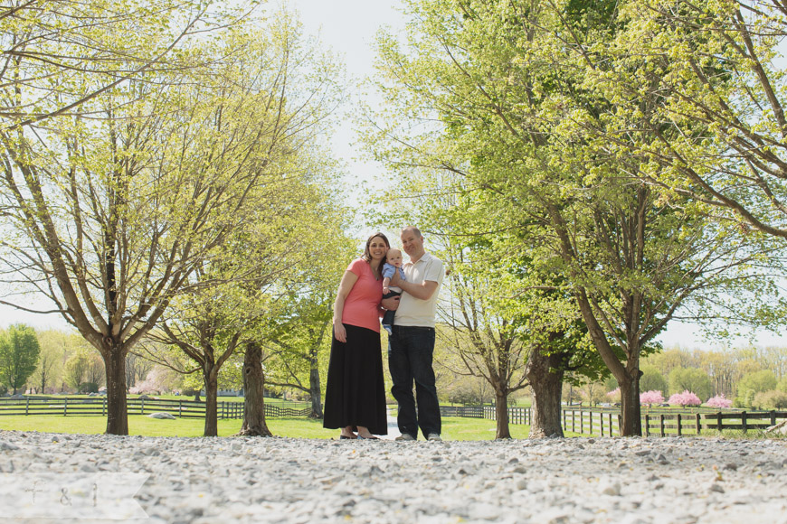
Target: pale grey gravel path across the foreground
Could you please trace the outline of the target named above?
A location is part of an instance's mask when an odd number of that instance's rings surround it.
[[[113,484],[128,477],[133,492],[141,478],[136,500],[148,518],[133,521],[146,523],[787,523],[783,439],[402,443],[0,431],[0,522],[24,521],[25,510],[38,515],[29,522],[67,516],[64,495],[45,482],[32,503],[33,479],[46,475],[105,479],[92,488],[98,510],[109,507]],[[73,485],[69,493],[81,494]]]

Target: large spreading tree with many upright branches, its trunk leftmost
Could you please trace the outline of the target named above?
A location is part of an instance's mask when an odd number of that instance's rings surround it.
[[[197,4],[199,21],[185,23],[199,36],[172,42],[170,32]],[[153,34],[112,23],[102,31],[139,39],[148,57],[181,46],[175,54],[183,63],[101,90],[80,113],[58,113],[52,99],[45,128],[22,126],[3,142],[3,220],[15,231],[5,260],[27,260],[14,267],[20,277],[47,292],[100,351],[107,431],[121,435],[128,434],[128,351],[194,285],[194,271],[246,227],[258,204],[252,190],[286,173],[280,156],[313,137],[309,96],[336,102],[329,89],[291,89],[292,81],[327,88],[334,73],[293,79],[291,32],[251,30],[258,20],[239,21],[235,4],[215,16],[209,11],[219,6],[210,2],[177,5],[186,11],[150,18]],[[213,31],[222,33],[207,38]],[[72,73],[74,89],[92,85],[90,71]]]

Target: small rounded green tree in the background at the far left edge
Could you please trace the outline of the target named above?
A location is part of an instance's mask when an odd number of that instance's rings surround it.
[[[32,327],[12,324],[0,335],[0,379],[16,394],[38,366],[41,346]]]

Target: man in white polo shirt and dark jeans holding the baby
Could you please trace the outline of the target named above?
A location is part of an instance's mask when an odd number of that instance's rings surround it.
[[[399,403],[397,422],[402,433],[396,440],[416,440],[419,427],[427,440],[441,440],[440,405],[431,359],[437,296],[445,271],[441,260],[423,249],[418,228],[402,229],[401,239],[410,262],[404,265],[405,278],[401,279],[397,273],[391,281],[403,293],[396,309],[393,333],[388,337],[388,367],[394,381],[391,392]]]

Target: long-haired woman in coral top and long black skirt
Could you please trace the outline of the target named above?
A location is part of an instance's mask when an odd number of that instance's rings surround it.
[[[388,248],[383,233],[369,237],[364,256],[347,267],[339,284],[323,420],[324,427],[341,428],[339,438],[388,433],[380,348],[382,271]]]

